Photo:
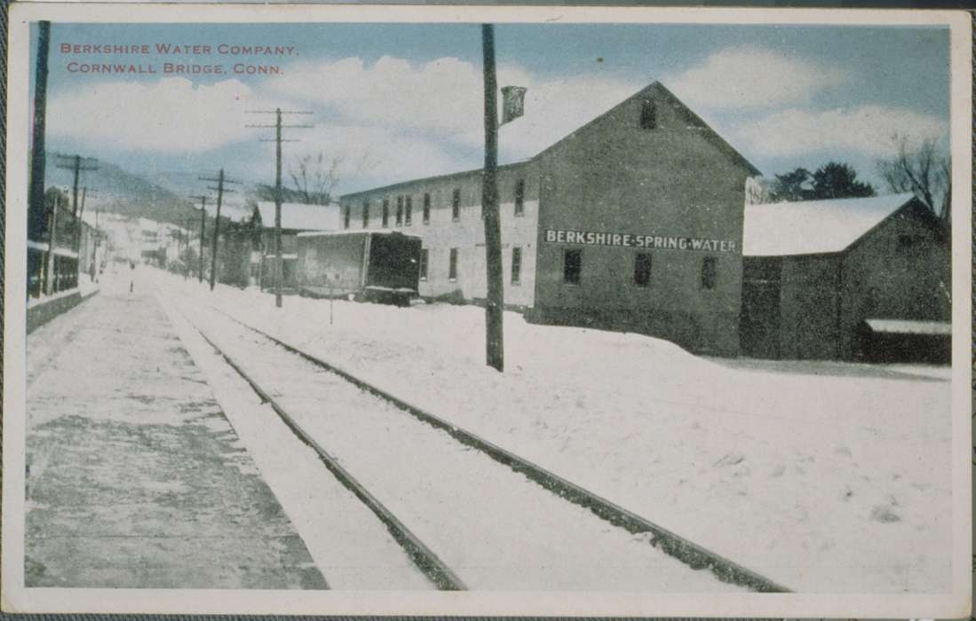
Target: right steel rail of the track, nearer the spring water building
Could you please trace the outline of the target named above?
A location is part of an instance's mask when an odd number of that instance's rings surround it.
[[[501,446],[492,444],[487,440],[484,440],[483,438],[461,427],[458,427],[454,423],[431,414],[424,408],[414,406],[413,404],[404,401],[386,390],[357,377],[353,373],[339,367],[338,365],[326,362],[321,358],[309,354],[298,347],[281,340],[280,338],[268,334],[264,330],[260,330],[254,326],[242,322],[220,308],[213,306],[211,308],[221,313],[234,323],[264,336],[264,338],[267,338],[293,354],[301,356],[309,363],[339,375],[361,390],[375,395],[376,397],[379,397],[392,404],[396,408],[403,409],[414,417],[426,422],[428,425],[446,432],[461,444],[480,450],[495,461],[505,464],[513,471],[524,475],[538,485],[542,485],[552,493],[555,493],[569,502],[589,509],[590,512],[592,512],[598,518],[601,518],[602,520],[605,520],[615,526],[626,528],[628,531],[634,534],[641,532],[651,533],[652,546],[660,549],[662,552],[677,559],[678,561],[687,564],[692,569],[707,568],[711,570],[715,577],[722,582],[742,586],[759,593],[792,593],[791,589],[774,582],[769,578],[766,578],[752,569],[749,569],[748,567],[745,567],[739,563],[730,561],[712,552],[711,550],[703,548],[702,546],[682,537],[681,535],[672,532],[664,526],[655,524],[646,518],[638,516],[624,507],[621,507],[620,505],[611,502],[610,500],[607,500],[606,498],[603,498],[602,496],[599,496],[580,485],[576,485],[556,474],[549,472],[549,470],[543,468],[542,466],[536,465],[531,461],[523,457],[519,457],[505,448],[502,448]]]

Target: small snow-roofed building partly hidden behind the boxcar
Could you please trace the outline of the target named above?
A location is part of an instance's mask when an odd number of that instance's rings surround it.
[[[258,203],[261,213],[262,243],[261,264],[257,266],[262,289],[274,286],[274,212],[273,201]],[[340,228],[339,204],[306,205],[305,203],[281,204],[281,272],[282,287],[298,286],[296,265],[298,260],[298,234],[305,231],[338,231]]]

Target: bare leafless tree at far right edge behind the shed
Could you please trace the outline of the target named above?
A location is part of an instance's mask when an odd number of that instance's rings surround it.
[[[877,163],[877,170],[892,192],[913,192],[944,223],[950,222],[953,177],[949,154],[938,140],[926,138],[914,145],[909,136],[893,136],[897,154]]]

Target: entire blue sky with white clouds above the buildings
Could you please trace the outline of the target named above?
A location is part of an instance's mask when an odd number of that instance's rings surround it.
[[[200,44],[196,56],[64,54],[61,44]],[[294,46],[286,57],[227,56],[231,45]],[[895,132],[948,136],[949,30],[933,27],[503,24],[502,84],[529,88],[527,117],[568,132],[660,80],[765,175],[829,160],[877,182]],[[154,74],[69,72],[69,62],[142,63]],[[221,64],[225,75],[163,75],[163,62]],[[235,75],[236,62],[276,64]],[[480,27],[468,24],[62,24],[52,26],[49,148],[133,172],[229,174],[270,182],[269,134],[244,114],[312,110],[286,163],[343,158],[338,188],[477,168]],[[559,122],[564,127],[558,127]],[[518,156],[538,144],[507,138]],[[506,146],[506,145],[503,145]],[[522,149],[524,152],[520,152]],[[195,188],[190,188],[189,191]]]

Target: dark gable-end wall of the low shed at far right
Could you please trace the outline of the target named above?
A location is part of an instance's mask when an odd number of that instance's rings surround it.
[[[865,319],[948,322],[951,257],[945,235],[920,203],[911,203],[855,244],[843,259],[840,356],[856,352]]]

